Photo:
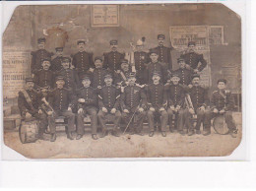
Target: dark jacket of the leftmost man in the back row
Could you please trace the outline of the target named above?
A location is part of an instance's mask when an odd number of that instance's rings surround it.
[[[45,49],[38,49],[36,51],[32,51],[32,74],[35,71],[42,69],[41,62],[43,58],[50,58],[53,56],[52,52],[48,52]]]

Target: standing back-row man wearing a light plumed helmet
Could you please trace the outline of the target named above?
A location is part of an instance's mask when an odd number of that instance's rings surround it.
[[[143,41],[139,39],[136,44],[137,51],[134,52],[134,62],[137,76],[137,83],[144,85],[146,66],[150,62],[149,53],[143,51]]]

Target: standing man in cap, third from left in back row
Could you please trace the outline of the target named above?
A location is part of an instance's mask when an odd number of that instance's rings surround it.
[[[79,79],[85,76],[88,71],[94,69],[93,53],[86,51],[86,41],[81,39],[77,41],[79,52],[73,56],[72,65],[78,72]]]

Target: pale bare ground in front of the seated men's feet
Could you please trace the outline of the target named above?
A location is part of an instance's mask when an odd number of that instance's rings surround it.
[[[22,144],[18,132],[5,132],[4,141],[8,147],[32,159],[218,157],[230,155],[241,141],[241,113],[235,113],[234,118],[239,129],[237,138],[218,135],[212,129],[210,136],[189,137],[168,132],[165,138],[156,133],[152,138],[148,134],[143,137],[123,135],[96,141],[89,132],[81,140],[73,141],[68,140],[64,132],[59,132],[54,143],[39,140],[32,144]]]

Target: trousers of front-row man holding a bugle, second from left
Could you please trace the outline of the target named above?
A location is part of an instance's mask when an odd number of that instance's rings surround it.
[[[55,124],[55,119],[58,116],[64,116],[68,118],[68,132],[73,132],[75,131],[75,114],[72,111],[69,110],[64,110],[60,111],[58,113],[55,113],[51,116],[48,116],[48,121],[49,121],[49,127],[50,127],[50,133],[54,134],[56,133],[56,124]]]

